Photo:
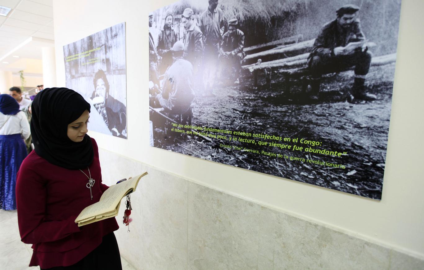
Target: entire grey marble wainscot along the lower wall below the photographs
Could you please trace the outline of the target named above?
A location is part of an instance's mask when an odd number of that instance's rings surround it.
[[[424,270],[424,259],[100,149],[103,182],[148,171],[116,232],[135,269]],[[123,214],[125,206],[121,205]]]

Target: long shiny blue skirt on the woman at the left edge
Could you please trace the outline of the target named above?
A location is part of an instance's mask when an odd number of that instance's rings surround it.
[[[16,209],[16,174],[26,156],[20,134],[0,135],[0,209]]]

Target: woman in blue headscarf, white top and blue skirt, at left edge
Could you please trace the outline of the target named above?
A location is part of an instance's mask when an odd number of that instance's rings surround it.
[[[16,209],[16,174],[27,156],[28,119],[12,96],[0,95],[0,209]]]

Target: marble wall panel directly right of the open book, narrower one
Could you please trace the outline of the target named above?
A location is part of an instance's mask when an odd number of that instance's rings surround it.
[[[142,182],[145,267],[187,269],[187,180],[149,169]]]

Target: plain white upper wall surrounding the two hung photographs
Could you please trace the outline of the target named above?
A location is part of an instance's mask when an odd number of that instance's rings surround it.
[[[148,12],[170,3],[173,1],[53,2],[58,86],[65,85],[63,45],[126,22],[128,140],[91,132],[99,146],[193,182],[424,257],[424,1],[402,1],[381,201],[148,146]]]

